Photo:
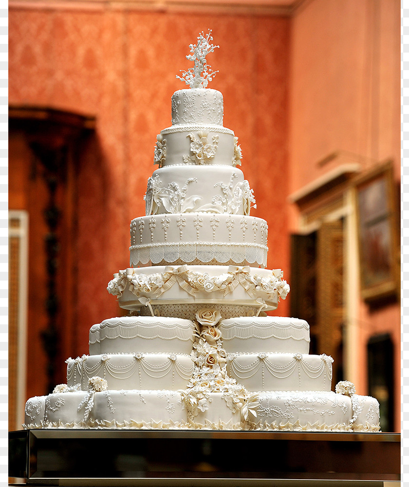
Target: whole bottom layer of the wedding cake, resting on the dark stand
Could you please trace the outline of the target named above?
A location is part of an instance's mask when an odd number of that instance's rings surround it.
[[[379,431],[376,399],[334,392],[252,394],[253,412],[232,406],[223,393],[210,393],[186,408],[186,391],[101,391],[68,388],[32,397],[25,408],[26,429],[123,428],[266,431]]]

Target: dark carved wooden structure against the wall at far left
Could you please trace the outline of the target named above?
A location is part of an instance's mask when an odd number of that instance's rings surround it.
[[[9,207],[26,211],[30,218],[26,305],[11,296],[16,316],[27,313],[30,343],[28,356],[11,347],[16,364],[25,366],[26,358],[28,362],[27,384],[10,381],[10,391],[23,387],[24,396],[22,405],[10,406],[13,411],[23,412],[28,397],[49,393],[65,382],[64,360],[79,353],[76,178],[81,142],[91,133],[93,123],[91,116],[46,107],[9,109]],[[18,242],[13,239],[10,248],[17,252]],[[17,260],[16,254],[11,270]],[[11,319],[10,326],[15,325]]]

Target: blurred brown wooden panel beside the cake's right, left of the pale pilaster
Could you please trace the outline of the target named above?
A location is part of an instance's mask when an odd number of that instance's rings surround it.
[[[291,315],[310,325],[310,353],[334,358],[333,387],[342,380],[344,239],[342,220],[292,235]]]

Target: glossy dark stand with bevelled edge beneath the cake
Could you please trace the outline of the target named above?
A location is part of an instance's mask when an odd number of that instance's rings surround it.
[[[391,487],[400,485],[400,462],[398,433],[9,433],[11,485]]]

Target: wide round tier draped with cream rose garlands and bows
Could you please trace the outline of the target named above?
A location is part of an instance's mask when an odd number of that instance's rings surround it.
[[[110,294],[127,309],[156,305],[209,304],[240,305],[256,310],[276,309],[289,286],[280,269],[249,266],[181,265],[128,268],[114,275],[108,284]],[[186,316],[185,318],[193,318]],[[228,318],[223,316],[223,318]]]

